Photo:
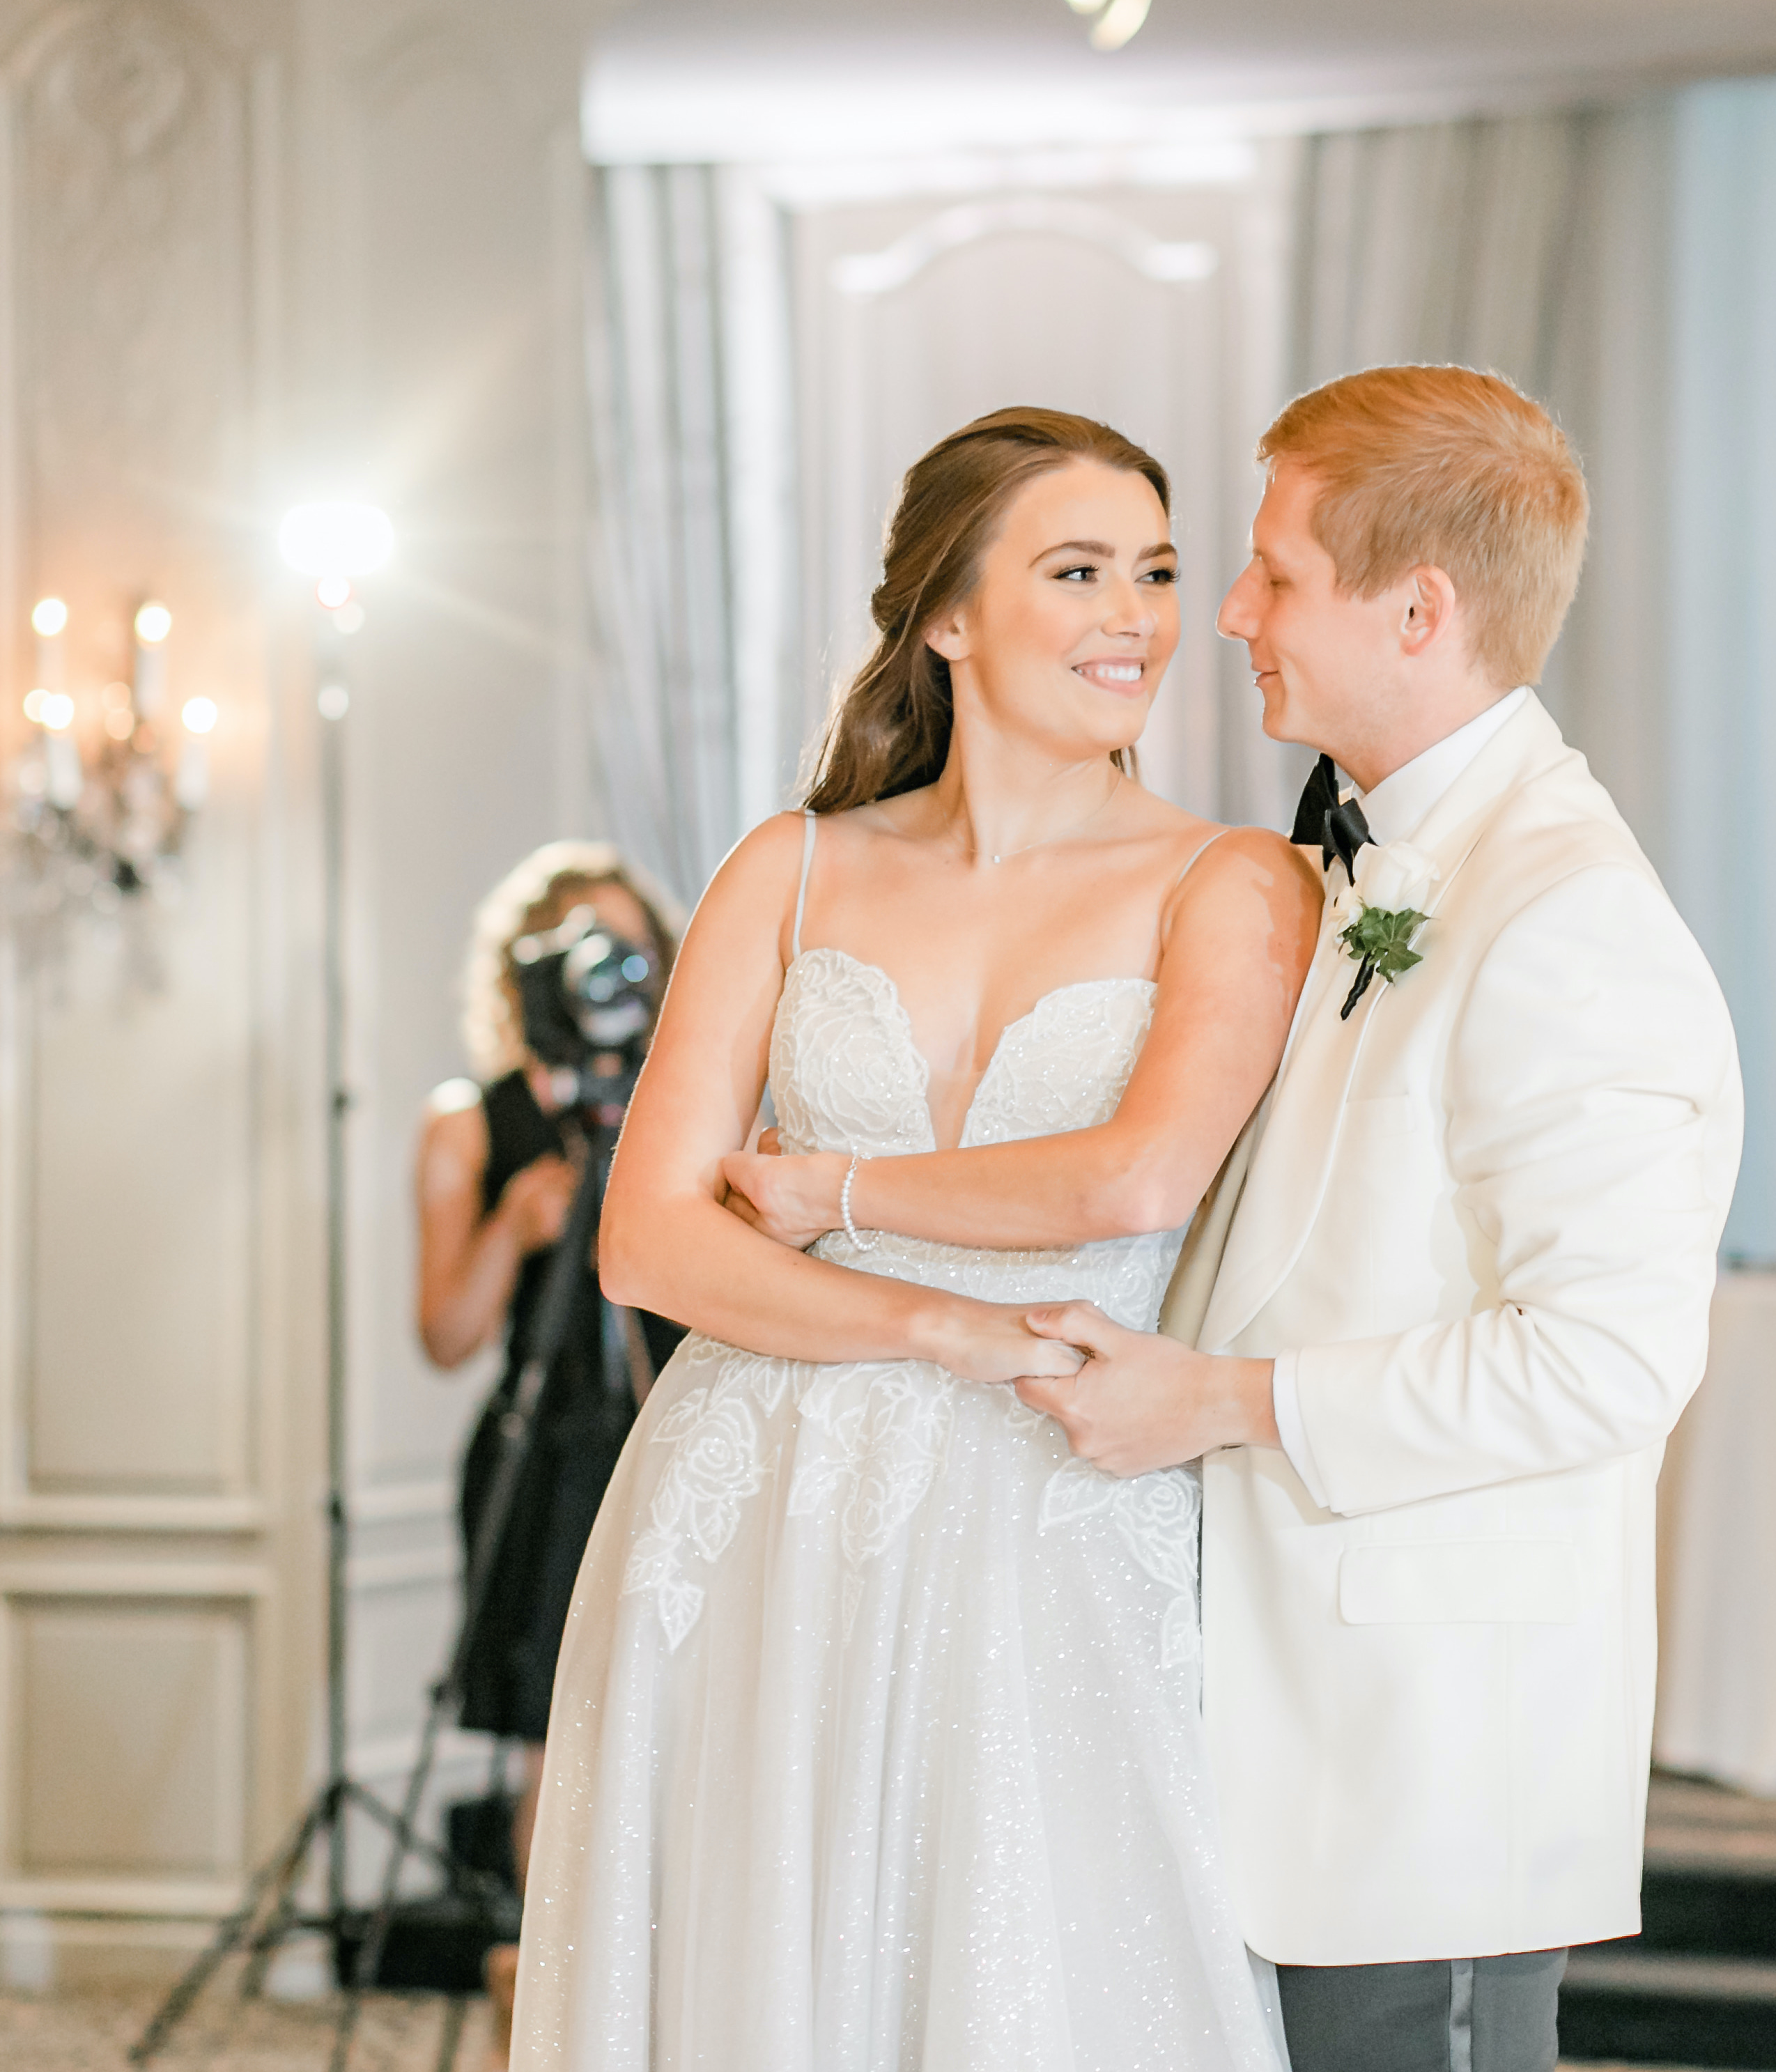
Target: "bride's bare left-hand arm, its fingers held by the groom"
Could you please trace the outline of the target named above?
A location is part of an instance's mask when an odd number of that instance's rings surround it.
[[[721,1158],[746,1142],[765,1088],[800,860],[800,816],[769,821],[690,922],[611,1167],[599,1283],[754,1353],[935,1359],[970,1380],[1071,1374],[1069,1347],[1032,1368],[1049,1341],[1018,1312],[804,1258],[721,1206]]]

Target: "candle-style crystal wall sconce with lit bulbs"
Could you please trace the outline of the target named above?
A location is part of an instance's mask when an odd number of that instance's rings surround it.
[[[128,682],[95,694],[68,688],[68,607],[31,611],[35,671],[25,694],[31,733],[12,762],[12,821],[35,881],[33,908],[114,912],[166,887],[191,816],[209,794],[213,698],[168,715],[166,642],[172,613],[149,599],[135,613]]]

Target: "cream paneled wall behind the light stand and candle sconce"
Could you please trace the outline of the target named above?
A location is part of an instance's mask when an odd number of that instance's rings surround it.
[[[481,891],[584,831],[580,160],[595,6],[0,0],[0,754],[145,595],[222,707],[184,899],[0,937],[0,1977],[164,1966],[319,1755],[309,607],[284,503],[392,512],[352,642],[352,1738],[394,1788],[477,1376],[410,1330],[410,1154]],[[143,959],[157,966],[149,982]],[[472,1751],[456,1747],[454,1780]],[[475,1755],[479,1765],[479,1753]]]

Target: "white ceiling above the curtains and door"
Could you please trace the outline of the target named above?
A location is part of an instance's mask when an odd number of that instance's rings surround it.
[[[638,0],[599,33],[599,157],[1109,143],[1776,73],[1776,0],[1152,0],[1121,52],[1065,0]]]

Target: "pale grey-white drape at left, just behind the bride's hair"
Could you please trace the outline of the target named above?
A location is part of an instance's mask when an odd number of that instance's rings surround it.
[[[756,182],[593,168],[597,785],[611,837],[686,901],[794,767],[787,338],[781,222]]]

